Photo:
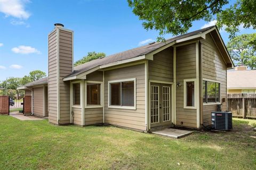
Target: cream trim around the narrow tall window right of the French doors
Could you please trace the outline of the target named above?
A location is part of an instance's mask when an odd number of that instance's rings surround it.
[[[194,81],[194,106],[187,106],[187,82]],[[197,109],[197,90],[196,79],[184,79],[183,80],[183,108]]]

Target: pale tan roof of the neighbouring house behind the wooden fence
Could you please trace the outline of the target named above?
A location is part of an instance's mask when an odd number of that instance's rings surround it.
[[[232,70],[227,72],[228,89],[256,89],[256,70]]]

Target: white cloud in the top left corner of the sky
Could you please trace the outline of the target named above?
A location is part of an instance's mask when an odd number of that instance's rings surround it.
[[[25,10],[25,3],[28,2],[28,0],[0,0],[0,12],[4,13],[6,17],[28,19],[30,13]]]

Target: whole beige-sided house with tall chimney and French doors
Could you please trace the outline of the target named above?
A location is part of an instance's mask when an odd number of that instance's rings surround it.
[[[19,88],[33,96],[31,112],[52,124],[202,128],[217,105],[227,109],[234,64],[215,26],[74,67],[74,32],[54,25],[49,77]]]

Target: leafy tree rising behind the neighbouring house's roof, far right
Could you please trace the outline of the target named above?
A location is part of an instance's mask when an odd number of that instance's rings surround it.
[[[235,63],[256,69],[256,46],[252,43],[255,39],[256,33],[252,33],[236,36],[228,42],[228,52]]]

